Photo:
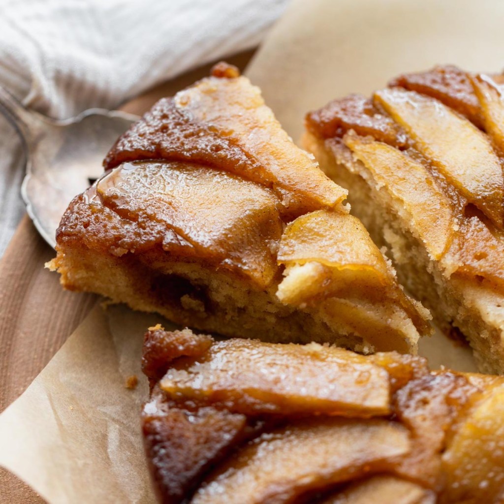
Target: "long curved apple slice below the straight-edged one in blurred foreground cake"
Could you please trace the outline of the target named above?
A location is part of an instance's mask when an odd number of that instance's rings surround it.
[[[192,502],[294,502],[306,492],[380,472],[408,450],[407,429],[387,420],[297,422],[239,450],[200,487]]]

